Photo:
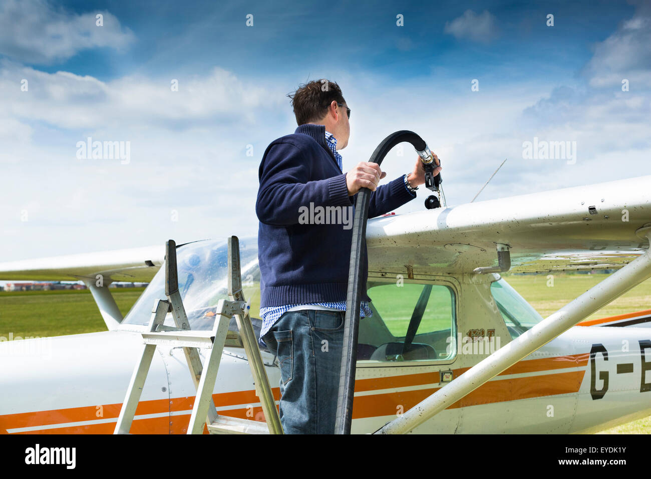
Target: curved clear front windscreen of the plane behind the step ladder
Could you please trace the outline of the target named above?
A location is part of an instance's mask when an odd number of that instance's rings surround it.
[[[176,248],[178,291],[183,298],[190,327],[208,330],[215,321],[215,309],[220,299],[229,299],[228,246],[226,240],[202,240]],[[251,303],[249,314],[258,317],[260,304],[260,270],[258,242],[255,237],[240,239],[242,290]],[[141,297],[133,304],[122,321],[123,325],[147,325],[156,300],[165,297],[165,265],[156,273]],[[174,326],[171,313],[165,325]]]

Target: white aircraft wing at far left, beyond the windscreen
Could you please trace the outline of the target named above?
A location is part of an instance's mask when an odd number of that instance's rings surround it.
[[[165,246],[70,254],[0,263],[0,280],[150,282],[165,257]]]

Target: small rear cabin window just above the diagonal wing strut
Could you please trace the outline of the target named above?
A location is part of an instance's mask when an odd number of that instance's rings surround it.
[[[542,321],[542,316],[504,278],[492,282],[490,292],[513,339]]]

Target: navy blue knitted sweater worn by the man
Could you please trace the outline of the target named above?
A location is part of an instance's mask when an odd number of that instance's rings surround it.
[[[327,147],[326,127],[302,124],[272,141],[260,162],[255,212],[260,263],[260,307],[346,300],[352,229],[342,224],[301,224],[301,207],[350,207],[346,173]],[[368,217],[394,210],[416,194],[401,175],[372,192]],[[352,222],[352,219],[350,220]],[[368,278],[364,254],[363,281]],[[370,301],[366,290],[362,301]]]

